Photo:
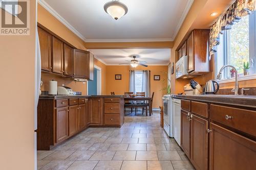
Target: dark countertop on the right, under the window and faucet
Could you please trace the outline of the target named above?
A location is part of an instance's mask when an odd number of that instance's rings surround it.
[[[173,98],[196,100],[202,102],[212,102],[227,105],[246,106],[256,108],[256,95],[179,95],[172,94]]]

